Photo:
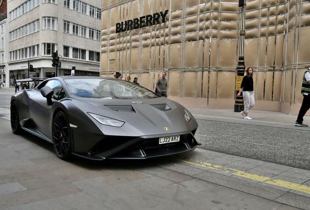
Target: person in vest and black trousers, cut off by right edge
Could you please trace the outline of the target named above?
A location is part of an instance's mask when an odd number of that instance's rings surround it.
[[[303,121],[305,114],[310,108],[310,67],[304,73],[301,93],[303,94],[304,99],[299,109],[295,126],[308,127],[308,125],[304,124]]]

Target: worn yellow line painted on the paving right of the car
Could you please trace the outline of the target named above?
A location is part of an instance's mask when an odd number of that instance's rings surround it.
[[[201,166],[201,167],[221,171],[224,173],[232,173],[233,175],[241,176],[241,177],[252,179],[255,181],[259,181],[259,182],[263,182],[263,183],[267,183],[267,184],[271,184],[271,185],[275,185],[279,187],[284,187],[287,189],[296,190],[300,192],[306,192],[310,194],[310,187],[307,187],[305,185],[296,184],[296,183],[292,183],[292,182],[288,182],[288,181],[284,181],[280,179],[272,179],[271,177],[268,177],[268,176],[250,174],[250,173],[247,173],[241,170],[225,168],[224,166],[221,166],[221,165],[213,165],[211,163],[206,163],[206,162],[202,162],[199,160],[193,160],[193,161],[188,161],[184,159],[177,159],[177,160],[180,160],[182,162],[186,162],[192,165]]]

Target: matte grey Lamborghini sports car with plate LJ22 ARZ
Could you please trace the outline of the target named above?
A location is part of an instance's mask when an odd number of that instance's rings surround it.
[[[60,76],[18,91],[11,127],[53,143],[60,159],[145,159],[198,145],[198,124],[185,107],[116,78]]]

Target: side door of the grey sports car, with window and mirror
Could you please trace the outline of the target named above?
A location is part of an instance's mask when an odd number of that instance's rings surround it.
[[[49,86],[54,90],[52,96],[53,101],[60,100],[65,97],[64,90],[59,80],[52,79],[49,80],[45,86]],[[30,116],[32,117],[35,126],[42,132],[45,136],[51,139],[52,136],[52,105],[47,104],[47,99],[42,96],[42,94],[34,95],[30,98],[29,103]]]

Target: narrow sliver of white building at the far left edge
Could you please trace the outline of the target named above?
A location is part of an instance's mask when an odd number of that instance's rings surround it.
[[[0,22],[0,80],[3,83],[4,87],[9,87],[8,82],[6,81],[8,78],[6,76],[7,72],[7,19],[4,19]]]

